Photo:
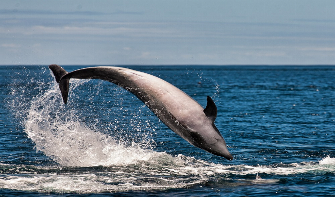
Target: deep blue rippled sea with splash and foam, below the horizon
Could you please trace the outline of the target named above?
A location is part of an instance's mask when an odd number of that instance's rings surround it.
[[[0,196],[335,196],[335,66],[125,67],[211,96],[234,160],[113,83],[71,79],[65,105],[48,66],[0,66]]]

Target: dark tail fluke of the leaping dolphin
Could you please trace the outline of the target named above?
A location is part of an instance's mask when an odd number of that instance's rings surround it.
[[[49,68],[56,78],[56,82],[58,83],[58,87],[61,90],[64,103],[67,103],[68,85],[70,78],[62,78],[67,74],[67,71],[58,65],[50,65]]]

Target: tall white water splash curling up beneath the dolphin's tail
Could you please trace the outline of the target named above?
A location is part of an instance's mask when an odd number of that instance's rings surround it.
[[[71,81],[70,88],[73,90],[88,80]],[[96,88],[96,94],[99,91],[99,88]],[[24,104],[26,110],[16,106],[17,114],[26,115],[22,118],[24,131],[35,143],[35,149],[43,151],[59,164],[63,166],[125,165],[148,161],[151,157],[161,154],[148,149],[154,144],[148,131],[143,134],[140,144],[134,141],[125,143],[129,139],[116,139],[85,125],[74,107],[71,108],[62,103],[56,82],[49,84],[48,89],[39,86],[39,92],[30,102]],[[139,131],[138,120],[128,123]],[[147,124],[150,125],[148,122]],[[117,130],[118,125],[113,129]],[[108,129],[106,130],[108,132]]]

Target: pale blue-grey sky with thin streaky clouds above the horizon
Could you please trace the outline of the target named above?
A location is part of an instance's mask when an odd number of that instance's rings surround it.
[[[0,0],[0,65],[335,65],[335,0]]]

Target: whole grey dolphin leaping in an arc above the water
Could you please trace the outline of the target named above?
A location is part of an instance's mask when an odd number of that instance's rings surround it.
[[[113,66],[88,67],[67,72],[58,65],[50,65],[61,90],[64,103],[70,78],[99,79],[117,84],[133,93],[172,131],[193,146],[214,155],[233,160],[226,142],[214,124],[217,106],[207,96],[202,106],[174,85],[147,73]]]

